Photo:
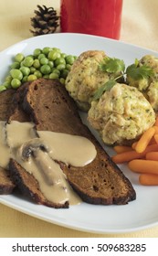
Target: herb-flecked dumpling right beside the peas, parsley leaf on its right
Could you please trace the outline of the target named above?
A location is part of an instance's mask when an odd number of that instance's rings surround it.
[[[110,69],[101,69],[100,65],[110,64]],[[66,79],[66,89],[77,102],[79,109],[88,111],[95,92],[107,81],[121,75],[121,71],[112,69],[111,59],[101,50],[88,50],[75,60]],[[108,64],[108,67],[109,67]],[[114,66],[115,68],[115,66]]]

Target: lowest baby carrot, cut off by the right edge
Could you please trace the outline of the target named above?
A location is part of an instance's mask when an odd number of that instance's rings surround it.
[[[158,175],[142,174],[139,176],[139,182],[146,186],[158,185]]]

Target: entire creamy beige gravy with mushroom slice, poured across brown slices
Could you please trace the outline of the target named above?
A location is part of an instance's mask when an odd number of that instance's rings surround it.
[[[96,157],[95,146],[85,137],[66,133],[35,131],[34,123],[0,122],[0,165],[7,168],[12,157],[35,176],[43,195],[55,203],[81,199],[69,186],[58,162],[88,165]]]

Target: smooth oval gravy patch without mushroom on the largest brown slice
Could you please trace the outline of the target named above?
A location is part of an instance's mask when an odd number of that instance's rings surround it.
[[[37,133],[49,145],[49,155],[66,165],[81,167],[96,157],[95,146],[85,137],[45,131]]]

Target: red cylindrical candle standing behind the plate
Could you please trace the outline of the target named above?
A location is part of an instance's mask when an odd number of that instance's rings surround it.
[[[119,39],[122,0],[61,0],[61,32]]]

